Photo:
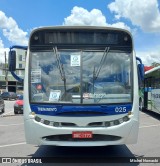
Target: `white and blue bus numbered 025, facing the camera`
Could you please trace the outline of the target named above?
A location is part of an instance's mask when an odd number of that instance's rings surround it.
[[[12,71],[14,57],[11,51]],[[92,26],[33,30],[25,67],[24,126],[29,144],[136,143],[139,86],[131,34]]]

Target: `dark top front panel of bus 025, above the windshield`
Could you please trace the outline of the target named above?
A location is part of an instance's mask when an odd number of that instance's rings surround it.
[[[42,47],[44,46],[44,47]],[[132,35],[125,29],[100,26],[53,26],[34,29],[29,48],[101,48],[133,51]]]

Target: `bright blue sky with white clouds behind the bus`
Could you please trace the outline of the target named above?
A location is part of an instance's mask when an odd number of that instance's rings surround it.
[[[33,29],[57,25],[127,29],[144,65],[160,63],[160,0],[0,0],[0,62]]]

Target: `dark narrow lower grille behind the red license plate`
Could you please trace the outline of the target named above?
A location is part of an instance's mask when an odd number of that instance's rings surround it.
[[[93,138],[72,138],[71,134],[62,134],[62,135],[50,135],[46,137],[42,137],[45,141],[75,141],[75,142],[82,142],[82,141],[118,141],[121,139],[119,136],[114,135],[103,135],[103,134],[93,134]]]

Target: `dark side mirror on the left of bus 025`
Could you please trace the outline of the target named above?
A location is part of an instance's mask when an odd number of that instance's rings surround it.
[[[9,71],[16,70],[16,51],[14,50],[9,51],[8,65]]]

